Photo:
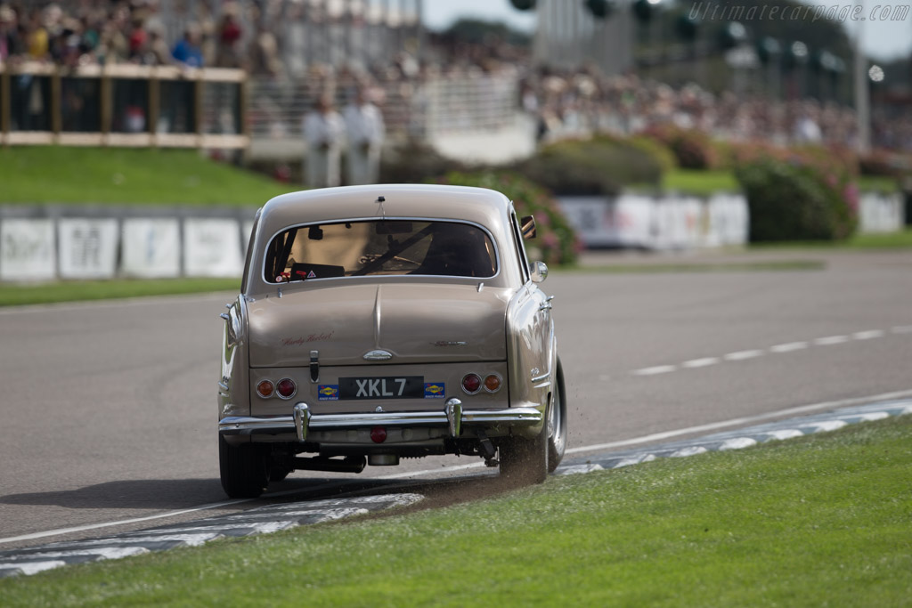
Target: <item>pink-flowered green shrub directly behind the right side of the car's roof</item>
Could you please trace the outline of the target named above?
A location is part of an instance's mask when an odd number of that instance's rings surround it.
[[[537,235],[526,242],[533,259],[548,264],[571,264],[582,250],[582,242],[576,238],[557,202],[547,191],[521,175],[509,171],[451,172],[436,182],[503,192],[513,201],[516,215],[534,216]]]

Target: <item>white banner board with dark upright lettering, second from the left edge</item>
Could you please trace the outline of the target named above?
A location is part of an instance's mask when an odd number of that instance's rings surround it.
[[[117,266],[117,220],[57,221],[61,279],[112,279]]]

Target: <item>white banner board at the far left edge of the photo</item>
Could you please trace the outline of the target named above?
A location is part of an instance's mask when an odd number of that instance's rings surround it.
[[[57,278],[53,220],[0,222],[0,280],[50,281]]]

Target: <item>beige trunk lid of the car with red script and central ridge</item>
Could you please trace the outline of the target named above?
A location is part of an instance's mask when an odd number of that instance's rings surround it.
[[[320,366],[503,360],[509,295],[477,283],[308,285],[248,304],[250,365],[308,366],[314,350]]]

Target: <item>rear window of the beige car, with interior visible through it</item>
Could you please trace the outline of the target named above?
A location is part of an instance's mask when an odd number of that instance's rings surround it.
[[[488,278],[497,273],[490,235],[463,222],[370,220],[296,226],[266,251],[265,280],[423,274]]]

